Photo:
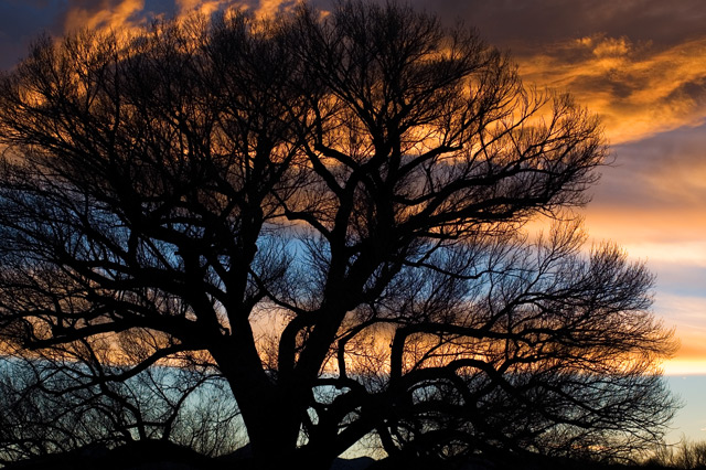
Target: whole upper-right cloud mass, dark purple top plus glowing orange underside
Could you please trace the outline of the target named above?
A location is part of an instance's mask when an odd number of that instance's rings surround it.
[[[611,143],[706,120],[700,0],[416,0],[509,49],[526,81],[569,90],[603,118]]]

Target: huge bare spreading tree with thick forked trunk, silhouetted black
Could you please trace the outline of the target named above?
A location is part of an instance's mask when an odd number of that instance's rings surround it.
[[[371,434],[398,459],[624,449],[671,416],[644,266],[521,232],[587,202],[597,118],[472,31],[343,2],[41,39],[0,141],[4,341],[152,339],[92,385],[205,353],[259,467]]]

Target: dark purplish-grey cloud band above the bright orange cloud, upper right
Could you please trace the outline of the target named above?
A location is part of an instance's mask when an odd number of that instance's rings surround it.
[[[704,33],[703,0],[414,0],[445,21],[462,19],[518,54],[596,32],[670,46]]]

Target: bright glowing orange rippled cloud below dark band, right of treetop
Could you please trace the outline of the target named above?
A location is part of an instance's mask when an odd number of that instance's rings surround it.
[[[665,49],[596,34],[520,57],[541,86],[567,89],[603,118],[611,143],[706,121],[706,38]]]

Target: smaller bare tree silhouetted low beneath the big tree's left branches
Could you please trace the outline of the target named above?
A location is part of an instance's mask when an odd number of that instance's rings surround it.
[[[227,382],[210,364],[182,356],[172,366],[125,374],[153,343],[146,334],[4,351],[0,463],[138,440],[171,441],[208,457],[243,445]]]

